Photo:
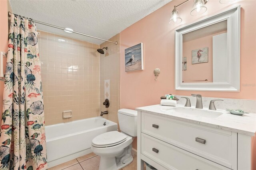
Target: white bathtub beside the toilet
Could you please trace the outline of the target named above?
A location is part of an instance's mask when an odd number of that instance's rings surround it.
[[[114,130],[117,130],[117,124],[102,117],[46,126],[48,167],[91,153],[92,139]]]

